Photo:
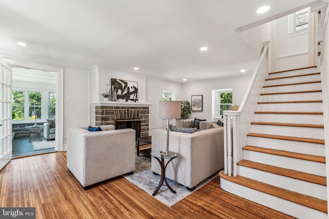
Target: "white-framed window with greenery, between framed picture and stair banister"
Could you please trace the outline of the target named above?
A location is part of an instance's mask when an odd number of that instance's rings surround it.
[[[213,90],[212,117],[219,118],[223,115],[223,110],[230,110],[232,106],[232,89]]]

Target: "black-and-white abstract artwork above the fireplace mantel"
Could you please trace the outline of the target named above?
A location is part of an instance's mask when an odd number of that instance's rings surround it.
[[[138,102],[138,83],[111,78],[112,95],[115,92],[119,102]]]

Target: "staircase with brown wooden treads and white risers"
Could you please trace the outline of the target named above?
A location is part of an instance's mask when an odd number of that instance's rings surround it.
[[[316,67],[269,73],[237,176],[221,187],[298,218],[328,218],[323,106]]]

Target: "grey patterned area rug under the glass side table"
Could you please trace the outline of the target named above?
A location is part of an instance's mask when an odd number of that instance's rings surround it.
[[[206,185],[208,182],[213,180],[218,173],[210,176],[203,182],[199,183],[195,190]],[[140,189],[144,190],[145,192],[149,193],[151,196],[155,189],[157,188],[160,175],[154,175],[151,170],[151,158],[145,156],[136,156],[136,170],[132,175],[124,175],[127,181],[131,182],[132,184],[138,186]],[[169,185],[176,191],[176,194],[171,192],[167,185],[163,183],[158,193],[153,196],[157,198],[160,202],[168,205],[169,207],[175,205],[180,200],[184,199],[188,195],[192,194],[194,191],[189,191],[184,185],[176,183],[175,181],[169,180],[167,178]]]

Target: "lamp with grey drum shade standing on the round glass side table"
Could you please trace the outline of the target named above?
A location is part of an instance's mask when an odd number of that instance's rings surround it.
[[[161,154],[170,156],[174,152],[169,151],[169,120],[180,118],[180,101],[159,101],[159,116],[167,119],[167,151]]]

